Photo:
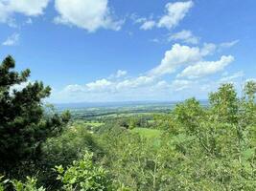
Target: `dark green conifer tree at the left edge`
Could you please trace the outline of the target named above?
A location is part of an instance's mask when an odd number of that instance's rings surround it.
[[[37,159],[41,143],[57,135],[70,117],[45,117],[42,99],[50,96],[51,88],[28,82],[30,70],[17,73],[14,67],[12,56],[0,65],[0,173],[8,176],[20,164]]]

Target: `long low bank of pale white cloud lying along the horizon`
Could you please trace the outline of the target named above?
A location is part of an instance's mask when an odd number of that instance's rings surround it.
[[[85,85],[69,85],[63,91],[54,92],[52,101],[177,100],[181,99],[180,94],[196,85],[197,82],[192,80],[175,79],[169,82],[146,75],[121,81],[100,79]]]

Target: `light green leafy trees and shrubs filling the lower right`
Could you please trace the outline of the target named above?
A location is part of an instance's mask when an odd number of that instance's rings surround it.
[[[118,137],[109,131],[107,169],[131,190],[254,190],[256,111],[248,95],[239,98],[227,84],[211,94],[209,107],[195,98],[178,104],[155,117],[165,130],[157,146],[142,131],[134,135],[136,129]]]

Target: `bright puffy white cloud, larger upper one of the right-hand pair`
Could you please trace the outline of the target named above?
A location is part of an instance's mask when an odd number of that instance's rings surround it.
[[[202,54],[198,47],[181,46],[175,44],[170,51],[165,53],[161,64],[151,70],[151,75],[163,75],[175,73],[175,70],[184,65],[201,60]]]

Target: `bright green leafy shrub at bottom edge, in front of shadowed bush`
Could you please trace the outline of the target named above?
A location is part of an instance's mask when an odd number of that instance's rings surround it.
[[[83,159],[73,161],[73,165],[65,170],[62,165],[56,167],[58,180],[63,183],[63,190],[110,190],[111,182],[104,168],[94,164],[92,157],[92,154],[86,153]]]

